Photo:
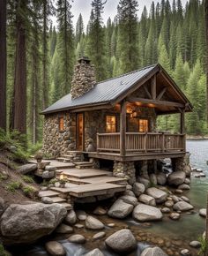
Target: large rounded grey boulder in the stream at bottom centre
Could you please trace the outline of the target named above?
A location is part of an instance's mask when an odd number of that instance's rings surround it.
[[[127,253],[137,248],[137,240],[130,230],[119,230],[108,237],[105,241],[106,245],[115,252]]]

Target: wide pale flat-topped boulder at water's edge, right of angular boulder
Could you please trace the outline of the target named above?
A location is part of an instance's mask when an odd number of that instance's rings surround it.
[[[133,210],[133,217],[139,222],[159,221],[162,219],[160,209],[139,204]]]

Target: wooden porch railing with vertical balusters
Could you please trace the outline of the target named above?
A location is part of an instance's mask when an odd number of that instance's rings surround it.
[[[164,132],[126,132],[126,152],[185,151],[185,134]],[[120,133],[98,133],[97,151],[120,152]]]

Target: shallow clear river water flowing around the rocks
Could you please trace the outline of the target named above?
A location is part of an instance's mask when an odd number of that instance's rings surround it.
[[[128,227],[137,237],[137,240],[139,240],[139,237],[145,237],[145,240],[142,239],[143,243],[138,243],[137,252],[131,253],[131,256],[139,256],[140,252],[145,248],[145,246],[148,244],[159,244],[158,241],[160,241],[161,238],[167,238],[171,242],[175,241],[175,245],[173,245],[171,248],[173,251],[175,250],[175,252],[178,252],[179,247],[188,247],[191,240],[197,240],[197,238],[204,232],[204,219],[200,217],[197,212],[199,208],[205,207],[206,194],[208,192],[208,166],[206,164],[206,161],[208,160],[208,140],[188,140],[187,151],[189,151],[191,154],[191,165],[203,169],[204,173],[206,174],[206,177],[192,177],[190,191],[184,192],[184,195],[189,198],[190,203],[195,207],[195,212],[193,214],[184,214],[179,221],[171,221],[166,216],[162,222],[153,222],[150,225],[135,222],[131,218],[125,221],[120,221],[110,219],[107,216],[100,216],[100,221],[106,224],[109,222],[115,223],[115,228],[106,228],[107,236],[116,230],[121,230],[122,228]],[[64,239],[64,237],[52,237],[52,239],[56,239],[63,244],[67,252],[67,256],[80,256],[96,247],[99,247],[106,256],[116,255],[113,252],[109,252],[105,247],[103,243],[105,238],[93,243],[91,242],[91,237],[96,233],[95,231],[81,229],[78,230],[78,233],[83,234],[88,240],[85,246],[73,245]],[[158,243],[154,243],[155,239],[158,239],[156,241]],[[163,242],[164,243],[162,245],[165,244],[164,246],[167,246],[168,241],[165,240]],[[42,244],[40,243],[40,245],[19,248],[19,250],[15,250],[15,252],[12,252],[12,254],[16,256],[46,256],[48,253],[45,252],[43,245],[44,242],[42,242]],[[165,247],[165,249],[167,249],[167,247]],[[197,255],[197,251],[192,251],[192,255]]]

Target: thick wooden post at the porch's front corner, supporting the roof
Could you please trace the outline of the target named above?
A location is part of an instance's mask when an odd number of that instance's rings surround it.
[[[126,154],[126,105],[127,102],[123,100],[120,113],[120,155],[122,156]]]

